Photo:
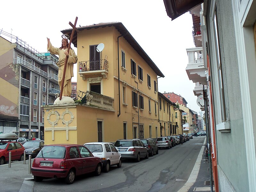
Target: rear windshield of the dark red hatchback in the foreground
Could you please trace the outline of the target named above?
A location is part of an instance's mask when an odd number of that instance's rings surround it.
[[[62,146],[45,146],[36,157],[63,159],[66,155],[66,148]]]

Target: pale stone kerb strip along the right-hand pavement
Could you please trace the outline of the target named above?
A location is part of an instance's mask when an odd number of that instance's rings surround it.
[[[205,143],[206,143],[206,138],[204,139],[204,144]],[[188,178],[188,181],[185,183],[185,185],[182,188],[180,188],[180,190],[178,192],[188,192],[190,187],[196,182],[196,178],[197,178],[197,175],[198,175],[198,172],[200,169],[200,164],[201,164],[203,153],[204,153],[204,146],[202,146],[202,148],[197,156],[195,166]]]

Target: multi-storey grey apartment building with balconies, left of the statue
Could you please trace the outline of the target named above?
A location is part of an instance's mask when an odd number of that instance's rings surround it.
[[[11,40],[12,39],[12,40]],[[58,58],[39,53],[9,33],[0,35],[0,132],[44,139],[44,108],[53,104]]]

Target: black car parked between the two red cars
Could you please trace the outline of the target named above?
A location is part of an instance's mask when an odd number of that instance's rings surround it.
[[[43,140],[31,140],[24,143],[23,147],[26,150],[26,157],[31,155],[32,158],[35,158],[39,151],[44,147]]]

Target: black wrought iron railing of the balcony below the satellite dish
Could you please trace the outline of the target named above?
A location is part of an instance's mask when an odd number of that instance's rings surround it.
[[[108,61],[105,59],[95,61],[79,61],[79,72],[84,71],[97,71],[106,70],[108,71]]]

